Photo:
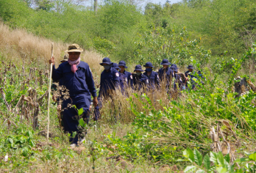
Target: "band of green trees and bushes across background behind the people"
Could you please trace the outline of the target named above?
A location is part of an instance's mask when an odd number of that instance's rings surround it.
[[[0,16],[11,26],[138,64],[158,65],[167,58],[183,66],[193,56],[200,65],[211,59],[217,72],[228,71],[231,56],[238,59],[255,40],[256,7],[251,0],[149,3],[144,13],[129,1],[111,0],[97,14],[71,1],[36,1],[36,9],[29,4],[2,0]]]

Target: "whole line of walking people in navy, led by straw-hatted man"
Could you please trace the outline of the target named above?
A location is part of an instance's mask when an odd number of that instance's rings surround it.
[[[116,64],[106,57],[100,63],[104,70],[101,74],[99,95],[97,96],[90,67],[80,59],[82,51],[82,48],[77,44],[69,45],[66,51],[68,56],[65,56],[63,63],[57,69],[54,66],[54,57],[49,59],[49,64],[53,65],[52,79],[58,81],[59,85],[64,86],[69,92],[68,99],[63,100],[61,105],[58,103],[57,107],[63,110],[63,130],[66,133],[71,133],[70,142],[75,146],[78,144],[79,137],[80,141],[83,140],[81,136],[72,136],[74,132],[79,134],[78,120],[80,117],[77,117],[77,109],[83,108],[82,118],[88,123],[91,97],[93,97],[94,120],[98,120],[100,118],[99,108],[102,107],[103,99],[114,100],[116,89],[121,89],[122,94],[127,95],[128,88],[141,92],[154,92],[165,84],[166,92],[170,93],[171,89],[174,89],[174,91],[190,89],[188,81],[191,83],[191,89],[195,89],[195,79],[198,79],[198,76],[204,78],[200,71],[198,72],[199,75],[196,76],[192,65],[188,65],[188,71],[185,72],[185,75],[179,73],[177,65],[171,65],[168,59],[163,59],[163,62],[161,62],[163,67],[158,70],[158,73],[153,71],[154,66],[151,62],[146,62],[143,65],[145,70],[141,65],[136,65],[133,73],[130,73],[126,70],[126,62],[120,61]]]

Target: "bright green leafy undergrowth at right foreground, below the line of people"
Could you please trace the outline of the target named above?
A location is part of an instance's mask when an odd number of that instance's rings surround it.
[[[196,74],[195,76],[199,78]],[[207,69],[204,76],[206,78],[210,76]],[[236,133],[241,138],[244,135],[255,138],[253,131],[246,134],[242,132],[256,129],[256,108],[253,102],[256,97],[255,92],[251,90],[235,98],[235,93],[228,93],[222,89],[226,87],[228,84],[224,84],[217,74],[205,85],[200,80],[196,80],[196,90],[183,91],[186,95],[185,100],[182,98],[170,100],[168,106],[160,109],[155,108],[152,100],[145,94],[135,94],[143,110],[132,101],[132,98],[129,98],[130,110],[135,114],[135,120],[132,123],[135,127],[134,132],[127,133],[124,139],[116,137],[115,134],[109,135],[108,138],[118,147],[122,155],[132,158],[150,158],[152,161],[165,163],[177,160],[178,153],[188,147],[207,152],[211,144],[211,140],[208,139],[210,127],[217,123],[218,119],[228,119],[235,124]],[[158,102],[162,101],[158,100]],[[211,168],[210,161],[222,159],[215,153],[210,157],[206,155],[202,158],[197,150],[185,150],[183,155],[199,166],[202,166],[204,161],[207,169]],[[230,167],[224,166],[225,161],[230,161],[230,158],[227,156],[224,160],[218,161],[223,166],[218,169],[230,170]],[[191,172],[196,170],[196,167],[190,166],[187,170]]]

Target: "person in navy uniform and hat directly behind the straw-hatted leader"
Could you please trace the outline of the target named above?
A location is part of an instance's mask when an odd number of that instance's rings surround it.
[[[119,87],[119,72],[115,68],[111,67],[113,62],[111,62],[109,58],[105,57],[102,59],[102,63],[100,63],[100,65],[104,67],[104,70],[100,79],[98,95],[99,106],[94,108],[94,120],[98,120],[100,118],[99,108],[102,107],[102,98],[113,99],[115,89],[118,89]]]

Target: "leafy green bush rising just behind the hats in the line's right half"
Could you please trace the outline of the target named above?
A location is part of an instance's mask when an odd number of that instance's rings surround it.
[[[185,27],[180,32],[174,26],[154,28],[140,35],[135,41],[135,59],[137,63],[152,62],[159,66],[163,59],[175,62],[178,65],[187,65],[191,57],[195,57],[200,65],[206,65],[210,58],[210,50],[199,46],[201,38],[189,40],[189,34]]]

